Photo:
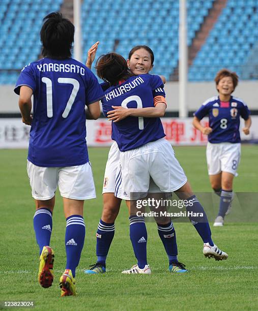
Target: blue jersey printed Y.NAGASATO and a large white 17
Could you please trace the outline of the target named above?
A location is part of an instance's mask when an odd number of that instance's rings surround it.
[[[42,167],[87,163],[84,109],[103,96],[94,74],[72,58],[43,58],[22,69],[16,94],[22,85],[34,96],[28,160]]]

